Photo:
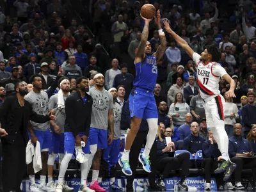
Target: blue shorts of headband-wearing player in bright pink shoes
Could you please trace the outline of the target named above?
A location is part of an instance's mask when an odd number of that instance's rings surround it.
[[[97,128],[90,128],[89,133],[90,145],[97,144],[97,148],[108,147],[108,131]]]

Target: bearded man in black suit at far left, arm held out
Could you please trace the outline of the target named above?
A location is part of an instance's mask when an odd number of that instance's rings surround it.
[[[43,124],[56,120],[56,116],[38,115],[31,104],[24,100],[28,94],[27,83],[15,84],[15,95],[4,100],[0,110],[0,120],[8,135],[1,138],[3,147],[3,188],[4,192],[20,191],[22,177],[26,171],[26,143],[28,142],[28,121]],[[33,130],[29,130],[33,134]]]

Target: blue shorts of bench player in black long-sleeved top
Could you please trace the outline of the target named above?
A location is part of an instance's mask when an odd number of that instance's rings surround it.
[[[83,136],[84,132],[80,132],[79,136]],[[64,140],[64,147],[65,153],[67,154],[74,154],[75,152],[75,145],[76,145],[76,138],[72,134],[72,132],[64,132],[65,140]],[[90,154],[90,143],[87,140],[87,144],[83,147],[84,154]]]

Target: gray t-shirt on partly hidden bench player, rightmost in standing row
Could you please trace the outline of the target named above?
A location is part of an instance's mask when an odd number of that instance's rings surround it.
[[[113,119],[114,119],[114,140],[118,140],[121,137],[121,114],[122,107],[120,104],[113,104]],[[108,129],[108,135],[110,134],[110,130]]]

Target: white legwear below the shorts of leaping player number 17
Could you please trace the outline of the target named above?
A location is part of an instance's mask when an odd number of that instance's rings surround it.
[[[228,156],[228,135],[225,131],[225,126],[223,122],[223,126],[218,127],[209,127],[209,130],[212,131],[214,139],[218,144],[218,148],[221,152],[221,156],[226,161],[230,160]]]

